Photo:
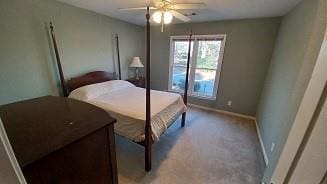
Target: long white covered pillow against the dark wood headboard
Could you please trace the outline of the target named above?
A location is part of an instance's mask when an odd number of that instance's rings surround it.
[[[77,88],[69,94],[69,98],[86,101],[126,87],[135,87],[135,85],[124,80],[106,81]]]

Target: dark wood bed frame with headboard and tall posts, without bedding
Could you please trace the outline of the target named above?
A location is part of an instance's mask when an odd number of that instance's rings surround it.
[[[151,99],[150,99],[150,13],[149,8],[147,8],[146,13],[146,120],[145,120],[145,140],[142,142],[137,142],[138,144],[145,147],[145,170],[150,171],[151,170],[151,153],[152,153],[152,144],[154,143],[154,140],[152,139],[152,128],[151,128]],[[53,42],[53,48],[56,55],[56,61],[58,65],[59,70],[59,76],[60,76],[60,82],[61,87],[63,90],[63,95],[67,97],[71,91],[74,89],[77,89],[82,86],[95,84],[99,82],[105,82],[110,80],[115,80],[117,77],[114,73],[108,73],[105,71],[94,71],[87,73],[85,75],[71,78],[68,81],[65,81],[62,65],[60,61],[60,56],[57,48],[56,38],[53,31],[52,23],[50,23],[50,30],[51,30],[51,36],[52,36],[52,42]],[[118,46],[118,36],[116,36],[117,39],[117,46]],[[187,105],[187,92],[188,92],[188,85],[189,85],[189,68],[190,68],[190,50],[191,50],[191,40],[192,40],[192,33],[189,37],[189,46],[188,46],[188,56],[187,56],[187,69],[186,69],[186,80],[185,80],[185,88],[184,88],[184,103]],[[119,50],[117,50],[117,54],[119,56]],[[119,75],[120,75],[120,65],[119,65]],[[121,76],[119,76],[120,78]],[[182,121],[181,126],[185,126],[185,119],[186,119],[186,112],[182,114]]]

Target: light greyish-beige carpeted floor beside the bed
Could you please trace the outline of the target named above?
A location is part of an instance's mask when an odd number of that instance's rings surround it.
[[[189,108],[153,146],[144,171],[143,147],[116,136],[119,183],[259,184],[264,162],[251,120]]]

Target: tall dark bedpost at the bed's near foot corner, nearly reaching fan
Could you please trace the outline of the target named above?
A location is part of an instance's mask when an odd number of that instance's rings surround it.
[[[151,170],[151,103],[150,103],[150,13],[147,7],[146,13],[146,119],[145,119],[145,170]]]

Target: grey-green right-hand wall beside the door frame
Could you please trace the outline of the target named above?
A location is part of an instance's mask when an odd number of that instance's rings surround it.
[[[311,77],[325,33],[326,3],[304,0],[282,20],[257,112],[269,160],[266,182],[272,177]]]

